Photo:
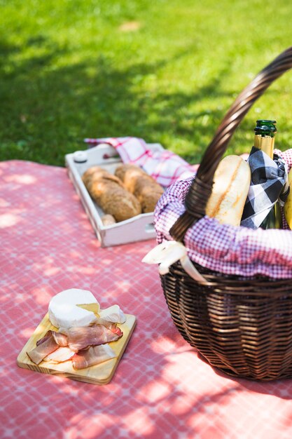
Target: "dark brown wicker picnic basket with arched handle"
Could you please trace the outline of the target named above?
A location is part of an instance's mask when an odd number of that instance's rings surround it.
[[[215,170],[230,137],[263,91],[292,67],[292,47],[267,65],[237,97],[202,158],[185,199],[186,212],[170,229],[183,242],[205,215]],[[235,377],[267,381],[292,377],[292,279],[230,276],[195,268],[200,283],[180,262],[160,276],[174,324],[207,362]]]

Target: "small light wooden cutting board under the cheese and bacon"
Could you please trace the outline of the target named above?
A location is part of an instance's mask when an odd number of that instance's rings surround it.
[[[136,318],[131,314],[125,314],[127,320],[123,324],[118,324],[118,327],[123,331],[123,337],[111,342],[109,345],[115,351],[116,358],[104,361],[99,365],[86,367],[81,370],[74,370],[71,361],[65,361],[64,363],[53,363],[51,361],[42,361],[39,365],[36,365],[29,359],[27,352],[36,347],[37,340],[41,339],[48,330],[56,331],[57,328],[50,323],[48,313],[41,320],[41,323],[34,331],[32,337],[27,341],[22,351],[18,355],[17,363],[19,367],[25,369],[34,370],[35,372],[41,372],[43,374],[60,375],[77,381],[83,381],[90,384],[108,384],[111,381],[116,367],[123,356],[123,352],[130,340],[134,327],[136,325]]]

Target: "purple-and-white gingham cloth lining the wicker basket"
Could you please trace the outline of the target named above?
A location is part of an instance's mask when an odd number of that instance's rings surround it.
[[[277,154],[290,169],[292,149]],[[154,214],[158,243],[172,239],[169,229],[185,210],[191,181],[174,183],[158,201]],[[184,243],[193,262],[220,273],[292,278],[292,232],[288,229],[233,227],[205,216],[188,229]]]

